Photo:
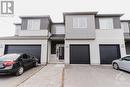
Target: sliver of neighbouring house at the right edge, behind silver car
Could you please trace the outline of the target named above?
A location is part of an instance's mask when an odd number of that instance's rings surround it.
[[[121,20],[121,27],[124,29],[126,54],[130,55],[130,20]]]

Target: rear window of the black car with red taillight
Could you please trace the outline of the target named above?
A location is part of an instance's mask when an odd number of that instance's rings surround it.
[[[6,54],[0,57],[0,61],[14,61],[16,60],[20,54]]]

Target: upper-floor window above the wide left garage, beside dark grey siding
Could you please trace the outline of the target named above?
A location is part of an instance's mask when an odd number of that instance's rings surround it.
[[[40,19],[29,19],[27,29],[40,30]]]

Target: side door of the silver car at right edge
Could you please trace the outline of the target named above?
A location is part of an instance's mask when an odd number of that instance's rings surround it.
[[[130,57],[124,57],[120,61],[120,68],[123,70],[130,71]]]

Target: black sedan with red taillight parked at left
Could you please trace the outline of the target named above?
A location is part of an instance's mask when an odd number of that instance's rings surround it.
[[[0,57],[0,73],[23,74],[26,69],[38,65],[38,59],[24,53],[6,54]]]

